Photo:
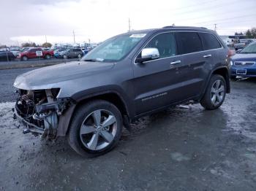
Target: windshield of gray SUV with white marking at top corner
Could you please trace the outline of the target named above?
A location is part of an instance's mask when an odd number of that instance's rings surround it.
[[[129,54],[132,48],[135,47],[144,36],[146,36],[146,34],[124,34],[112,37],[83,56],[81,61],[120,61]]]

